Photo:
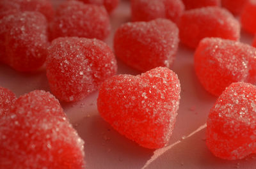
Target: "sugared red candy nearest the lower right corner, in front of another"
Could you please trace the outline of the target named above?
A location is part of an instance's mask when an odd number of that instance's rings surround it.
[[[206,145],[219,158],[242,159],[256,152],[255,123],[255,85],[233,83],[211,108]]]

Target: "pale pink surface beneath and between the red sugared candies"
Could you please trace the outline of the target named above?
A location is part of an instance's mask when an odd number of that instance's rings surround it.
[[[60,1],[55,1],[55,5]],[[130,20],[129,1],[122,1],[110,17],[113,31],[106,42],[112,47],[116,28]],[[252,38],[242,31],[241,41],[252,43]],[[173,136],[168,147],[163,149],[145,149],[113,130],[97,111],[97,92],[77,103],[61,103],[85,142],[86,168],[256,168],[254,155],[227,161],[212,156],[205,146],[205,121],[216,97],[207,93],[196,79],[193,50],[180,45],[172,70],[179,76],[182,92]],[[140,72],[118,61],[118,73],[136,75]],[[49,91],[44,68],[36,73],[19,73],[0,64],[0,85],[11,89],[17,96],[35,89]]]

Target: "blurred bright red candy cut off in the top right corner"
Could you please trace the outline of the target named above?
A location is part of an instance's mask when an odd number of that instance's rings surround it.
[[[241,12],[241,25],[248,33],[256,33],[256,0],[248,0]]]

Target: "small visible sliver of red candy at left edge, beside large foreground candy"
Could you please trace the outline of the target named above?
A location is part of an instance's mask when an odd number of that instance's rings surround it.
[[[15,94],[0,86],[0,119],[10,113],[10,108],[16,100]]]

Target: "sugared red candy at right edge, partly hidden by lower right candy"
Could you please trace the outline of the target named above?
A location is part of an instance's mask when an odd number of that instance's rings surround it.
[[[233,82],[256,82],[256,48],[221,38],[204,38],[195,51],[195,72],[205,90],[220,96]]]

